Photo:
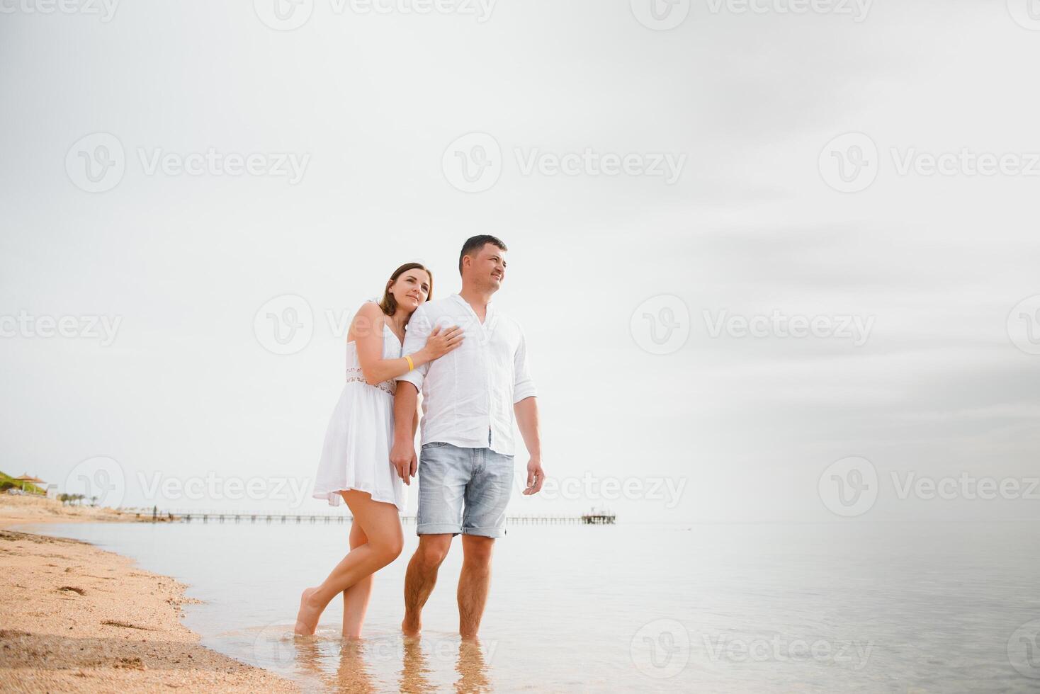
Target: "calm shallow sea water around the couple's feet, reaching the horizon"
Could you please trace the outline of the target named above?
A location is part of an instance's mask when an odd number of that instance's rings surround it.
[[[479,649],[458,624],[458,540],[417,644],[398,634],[414,550],[380,571],[365,638],[291,637],[347,524],[69,524],[189,584],[216,650],[321,691],[1034,692],[1040,528],[1030,524],[517,526],[497,542]]]

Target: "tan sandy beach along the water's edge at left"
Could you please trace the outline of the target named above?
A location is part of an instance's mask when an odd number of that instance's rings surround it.
[[[181,624],[185,586],[25,523],[126,522],[134,514],[0,495],[0,690],[295,692],[276,674],[210,650]]]

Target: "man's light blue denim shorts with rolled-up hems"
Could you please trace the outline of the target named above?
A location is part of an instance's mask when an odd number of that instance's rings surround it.
[[[501,537],[512,491],[512,455],[490,448],[424,444],[419,453],[416,533]]]

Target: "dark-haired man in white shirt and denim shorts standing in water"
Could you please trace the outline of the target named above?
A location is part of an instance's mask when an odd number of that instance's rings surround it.
[[[401,631],[416,636],[422,606],[451,539],[462,534],[459,633],[476,640],[491,582],[491,550],[505,534],[513,486],[513,417],[530,461],[523,493],[538,493],[542,471],[535,384],[520,325],[491,302],[505,278],[505,244],[474,236],[459,257],[462,291],[427,301],[412,315],[404,354],[418,351],[434,325],[459,325],[462,346],[397,378],[390,460],[406,483],[419,474],[419,546],[405,578]],[[422,390],[422,451],[414,445],[416,399]]]

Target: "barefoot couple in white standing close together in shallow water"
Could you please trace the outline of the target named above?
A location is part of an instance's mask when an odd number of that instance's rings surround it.
[[[350,552],[321,585],[303,592],[296,634],[314,634],[322,610],[342,593],[343,636],[361,638],[372,575],[404,546],[398,513],[405,485],[418,473],[419,546],[405,578],[401,631],[418,636],[437,569],[461,533],[459,633],[476,640],[491,550],[505,534],[514,413],[530,454],[523,493],[538,493],[544,481],[523,331],[491,302],[505,278],[505,250],[493,236],[467,240],[459,257],[462,291],[430,302],[430,270],[402,265],[383,299],[365,303],[350,323],[346,384],[314,483],[314,497],[333,506],[342,498],[350,508]],[[420,390],[422,448],[416,458]]]

